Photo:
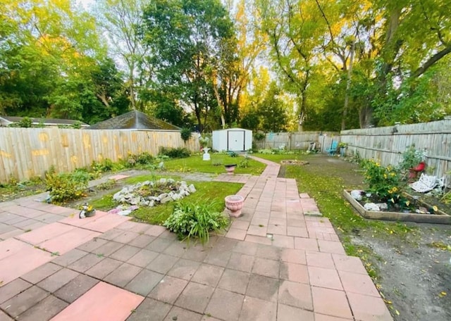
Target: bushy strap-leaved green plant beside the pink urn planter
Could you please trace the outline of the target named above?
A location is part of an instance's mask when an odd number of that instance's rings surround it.
[[[163,223],[171,232],[177,233],[180,239],[197,238],[204,245],[209,241],[209,233],[225,229],[229,220],[214,209],[211,203],[177,203],[173,213]]]

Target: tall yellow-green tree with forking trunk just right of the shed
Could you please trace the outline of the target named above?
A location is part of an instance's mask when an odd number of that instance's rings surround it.
[[[285,88],[297,95],[302,127],[308,109],[309,83],[315,73],[316,49],[326,23],[313,0],[257,0],[257,8],[279,75]]]

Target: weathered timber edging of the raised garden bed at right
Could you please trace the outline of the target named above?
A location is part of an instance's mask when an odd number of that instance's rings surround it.
[[[364,218],[371,220],[394,220],[400,222],[419,222],[419,223],[438,223],[451,224],[451,216],[447,213],[440,212],[438,214],[417,214],[417,213],[397,213],[365,210],[365,208],[355,199],[352,198],[350,191],[344,190],[343,196]]]

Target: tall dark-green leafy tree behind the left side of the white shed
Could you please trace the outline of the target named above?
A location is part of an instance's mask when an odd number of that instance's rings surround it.
[[[216,77],[233,42],[227,11],[218,0],[156,0],[144,10],[142,32],[156,89],[192,108],[202,131],[208,114],[218,111]]]

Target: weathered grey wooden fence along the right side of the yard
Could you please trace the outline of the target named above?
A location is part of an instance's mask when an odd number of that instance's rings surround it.
[[[348,144],[347,154],[359,153],[362,158],[380,160],[384,166],[397,165],[402,153],[413,144],[415,149],[426,152],[431,174],[442,177],[451,170],[451,120],[344,130],[340,134],[341,141]],[[447,185],[450,183],[447,180]]]

